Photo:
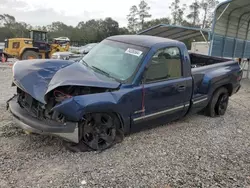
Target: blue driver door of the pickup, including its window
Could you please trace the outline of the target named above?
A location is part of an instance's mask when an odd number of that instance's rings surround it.
[[[152,57],[144,90],[144,110],[135,115],[134,123],[166,123],[183,115],[187,82],[182,73],[180,50],[158,50]]]

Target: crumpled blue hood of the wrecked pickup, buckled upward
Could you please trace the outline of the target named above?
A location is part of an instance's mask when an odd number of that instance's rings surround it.
[[[36,100],[59,86],[117,88],[119,83],[73,61],[38,59],[18,61],[13,66],[13,81]]]

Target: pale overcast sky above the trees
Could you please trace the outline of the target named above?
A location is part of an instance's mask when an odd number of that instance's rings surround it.
[[[221,0],[222,1],[222,0]],[[76,26],[80,21],[112,17],[121,27],[127,26],[129,8],[140,0],[0,0],[0,14],[15,16],[33,26],[61,21]],[[146,0],[152,18],[170,16],[172,0]],[[181,0],[191,4],[193,0]]]

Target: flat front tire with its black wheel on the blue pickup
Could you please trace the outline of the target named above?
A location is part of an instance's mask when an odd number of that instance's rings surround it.
[[[78,144],[65,143],[73,152],[103,151],[122,142],[124,132],[119,117],[114,113],[91,113],[79,122]]]

